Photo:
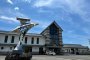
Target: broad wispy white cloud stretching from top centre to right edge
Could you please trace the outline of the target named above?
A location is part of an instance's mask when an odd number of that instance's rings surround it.
[[[90,8],[86,0],[36,0],[34,7],[63,9],[66,14],[78,14],[85,22],[90,22]],[[66,15],[68,16],[68,15]]]

